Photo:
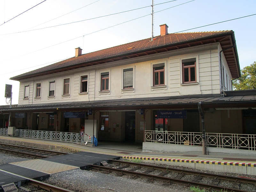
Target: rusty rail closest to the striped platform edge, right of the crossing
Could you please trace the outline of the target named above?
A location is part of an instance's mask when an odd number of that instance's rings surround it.
[[[204,173],[204,172],[198,172],[198,171],[189,171],[189,170],[162,167],[162,166],[156,166],[156,165],[147,165],[147,164],[127,162],[127,161],[118,161],[118,160],[112,160],[112,159],[110,160],[110,162],[138,166],[138,167],[145,167],[145,168],[149,168],[149,169],[162,170],[162,171],[168,171],[168,172],[177,172],[177,173],[184,173],[184,174],[196,175],[196,176],[202,176],[202,177],[210,177],[210,178],[214,178],[214,179],[256,184],[256,179],[240,178],[240,177],[219,175],[219,174],[214,174],[214,173]]]

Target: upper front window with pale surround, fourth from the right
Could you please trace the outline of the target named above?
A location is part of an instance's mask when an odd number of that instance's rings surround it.
[[[99,95],[110,94],[110,70],[100,71]]]

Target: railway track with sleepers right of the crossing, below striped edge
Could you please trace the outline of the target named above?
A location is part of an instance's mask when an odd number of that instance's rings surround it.
[[[169,184],[176,183],[176,184],[194,186],[194,187],[205,188],[205,189],[215,190],[215,191],[225,191],[225,192],[226,191],[227,192],[228,191],[246,192],[248,190],[240,189],[241,183],[254,184],[254,185],[256,184],[256,179],[240,178],[240,177],[197,172],[197,171],[188,171],[188,170],[182,170],[182,169],[139,164],[139,163],[125,162],[125,161],[118,161],[118,160],[110,160],[108,163],[101,162],[101,165],[92,165],[91,169],[94,169],[95,171],[98,171],[98,172],[104,171],[104,173],[107,173],[107,174],[110,172],[116,172],[116,173],[119,173],[120,176],[130,175],[135,178],[142,177],[152,181],[160,180],[160,181],[165,181]],[[168,175],[170,173],[176,173],[176,176],[169,177]],[[182,179],[185,177],[185,175],[194,175],[194,179],[193,180]],[[212,183],[204,184],[203,182],[200,182],[205,177],[212,178]],[[219,186],[221,180],[228,180],[230,182],[233,182],[232,188]]]

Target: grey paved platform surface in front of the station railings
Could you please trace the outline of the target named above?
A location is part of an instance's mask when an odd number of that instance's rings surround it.
[[[81,143],[68,143],[56,140],[40,140],[33,138],[7,137],[0,135],[0,142],[4,143],[23,143],[27,142],[27,146],[42,148],[42,145],[52,146],[53,148],[67,148],[69,150],[77,150],[81,152],[92,152],[98,154],[112,156],[138,156],[152,158],[175,158],[205,161],[223,161],[223,162],[239,162],[239,163],[256,163],[256,156],[237,154],[219,154],[219,155],[195,155],[184,153],[142,153],[142,143],[124,143],[124,142],[98,142],[97,147],[85,146]],[[63,150],[64,151],[64,150]],[[67,150],[66,150],[67,152]]]

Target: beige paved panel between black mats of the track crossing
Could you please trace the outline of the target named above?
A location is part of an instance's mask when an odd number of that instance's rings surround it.
[[[44,160],[40,160],[40,159],[14,162],[14,163],[10,163],[10,164],[17,165],[20,167],[25,167],[25,168],[40,171],[40,172],[44,172],[44,173],[48,173],[48,174],[68,171],[68,170],[72,170],[72,169],[79,169],[79,167],[60,164],[60,163],[54,163],[54,162],[50,162],[50,161],[44,161]]]

